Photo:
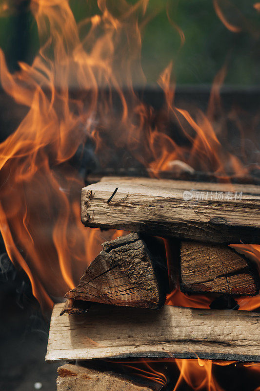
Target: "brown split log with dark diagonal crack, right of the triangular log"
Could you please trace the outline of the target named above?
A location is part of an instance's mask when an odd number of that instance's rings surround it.
[[[259,293],[260,278],[253,265],[226,245],[181,242],[180,272],[183,292]]]

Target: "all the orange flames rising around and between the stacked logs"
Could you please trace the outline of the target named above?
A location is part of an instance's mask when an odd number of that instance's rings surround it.
[[[50,308],[75,286],[100,252],[100,243],[123,234],[90,230],[80,222],[84,180],[72,158],[87,140],[95,140],[103,166],[115,153],[126,150],[152,176],[168,171],[177,160],[192,170],[215,173],[222,182],[230,175],[250,174],[245,154],[240,160],[220,141],[221,130],[227,127],[216,120],[226,65],[215,77],[204,113],[175,105],[174,64],[170,63],[158,80],[165,105],[156,117],[134,91],[135,84],[145,81],[140,55],[142,30],[152,16],[148,0],[115,3],[113,9],[106,0],[97,0],[99,12],[77,24],[68,0],[32,0],[40,38],[33,64],[20,63],[20,70],[11,74],[0,51],[1,86],[28,108],[18,129],[0,144],[0,231],[8,256],[27,273],[43,308]],[[232,32],[240,32],[241,27],[225,17],[220,1],[213,4],[220,21]],[[1,15],[9,9],[3,2]],[[184,32],[168,11],[167,16],[182,46]],[[83,91],[82,96],[72,96],[69,86]],[[114,94],[120,110],[114,108]],[[228,121],[241,132],[244,129],[236,109]],[[186,141],[182,146],[167,132],[169,123],[181,131]],[[232,246],[259,262],[259,246]],[[241,309],[254,309],[260,300],[259,296],[241,298],[239,303]],[[208,308],[210,299],[184,295],[176,288],[167,304]],[[222,390],[212,375],[211,361],[172,363],[180,372],[174,391],[184,383],[193,390]],[[144,366],[140,370],[132,365],[132,369],[166,384],[164,373],[153,369],[152,362]]]

